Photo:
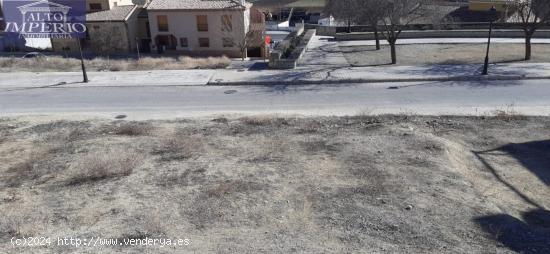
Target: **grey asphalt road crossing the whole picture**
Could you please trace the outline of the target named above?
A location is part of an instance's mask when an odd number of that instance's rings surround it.
[[[0,91],[0,116],[127,115],[129,119],[220,114],[550,115],[550,81],[308,86],[80,87]]]

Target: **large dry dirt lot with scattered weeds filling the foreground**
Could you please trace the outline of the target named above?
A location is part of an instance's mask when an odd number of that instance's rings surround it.
[[[550,118],[0,120],[2,253],[550,253]],[[187,238],[14,247],[22,237]]]

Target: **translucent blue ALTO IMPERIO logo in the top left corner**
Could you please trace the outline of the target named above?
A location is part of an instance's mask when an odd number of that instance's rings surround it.
[[[21,38],[83,38],[86,0],[0,0],[6,34]]]

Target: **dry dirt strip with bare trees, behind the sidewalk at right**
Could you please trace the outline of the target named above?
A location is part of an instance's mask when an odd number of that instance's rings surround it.
[[[391,63],[389,46],[375,50],[374,46],[340,47],[352,66],[375,66]],[[410,44],[397,46],[399,65],[422,64],[482,64],[486,44]],[[523,62],[524,44],[491,44],[491,62]],[[550,62],[550,45],[533,44],[530,62]]]

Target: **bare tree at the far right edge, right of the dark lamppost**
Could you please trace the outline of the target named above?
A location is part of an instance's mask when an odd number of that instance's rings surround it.
[[[525,60],[531,60],[531,39],[543,23],[550,22],[550,1],[516,0],[513,7],[525,33]]]

